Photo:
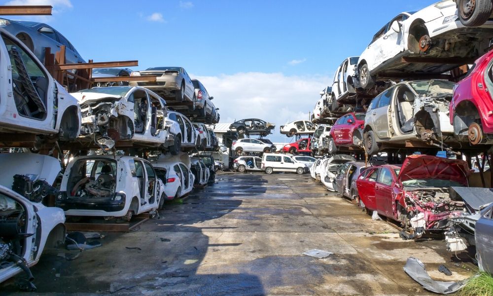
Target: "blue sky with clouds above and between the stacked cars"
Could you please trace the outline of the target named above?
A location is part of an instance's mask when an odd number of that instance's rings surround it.
[[[54,15],[41,20],[67,37],[86,60],[139,60],[134,70],[182,66],[191,76],[208,81],[209,85],[202,82],[221,109],[221,121],[262,115],[278,125],[308,115],[318,92],[331,84],[337,66],[346,57],[359,55],[393,16],[434,2],[10,1],[53,5]],[[245,78],[241,75],[245,73],[251,75]],[[275,83],[257,86],[256,73],[270,74],[259,82],[273,79],[284,84],[276,84],[275,89],[269,89]],[[251,83],[236,83],[240,77]],[[303,87],[293,89],[298,83]],[[239,89],[225,91],[233,85]],[[248,95],[239,99],[243,92]],[[253,105],[254,110],[235,109],[237,100],[259,105]],[[275,104],[263,108],[262,100]],[[284,140],[277,136],[275,140]]]

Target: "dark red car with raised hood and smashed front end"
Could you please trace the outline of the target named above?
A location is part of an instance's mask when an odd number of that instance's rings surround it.
[[[467,162],[431,155],[411,155],[402,166],[372,167],[356,180],[359,204],[367,211],[402,222],[418,238],[425,230],[449,226],[449,218],[463,213],[464,202],[452,200],[451,186],[467,186]]]

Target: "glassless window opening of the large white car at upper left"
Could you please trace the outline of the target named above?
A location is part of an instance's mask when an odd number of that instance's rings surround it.
[[[12,90],[21,116],[44,119],[47,115],[50,78],[17,41],[1,35],[12,66]],[[53,79],[53,78],[51,78]],[[50,102],[50,104],[53,104]]]

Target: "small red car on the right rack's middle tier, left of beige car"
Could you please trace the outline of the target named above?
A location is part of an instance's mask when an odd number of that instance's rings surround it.
[[[330,129],[328,152],[335,154],[339,147],[358,146],[363,139],[365,113],[348,113],[337,119]]]

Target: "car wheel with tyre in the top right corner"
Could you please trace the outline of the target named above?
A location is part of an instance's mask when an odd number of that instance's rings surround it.
[[[478,27],[486,23],[493,11],[492,0],[458,0],[459,19],[466,27]]]

